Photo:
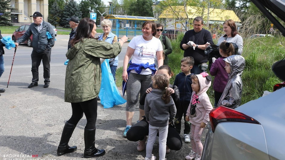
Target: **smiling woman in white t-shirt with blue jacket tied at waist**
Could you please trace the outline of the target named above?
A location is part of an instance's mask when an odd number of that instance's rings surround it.
[[[127,48],[123,62],[122,79],[127,82],[126,129],[123,136],[132,126],[139,94],[142,96],[151,83],[151,75],[156,73],[154,58],[157,57],[157,68],[163,65],[163,48],[159,39],[155,38],[156,25],[153,21],[145,21],[142,27],[143,35],[134,37]],[[129,62],[130,58],[132,60]],[[128,64],[130,66],[127,70]],[[123,86],[124,87],[124,86]],[[144,106],[139,105],[139,120],[144,116]]]

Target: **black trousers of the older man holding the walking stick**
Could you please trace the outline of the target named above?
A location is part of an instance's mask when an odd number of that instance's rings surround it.
[[[50,57],[51,57],[51,51],[50,50],[45,50],[43,52],[36,52],[32,51],[31,58],[32,58],[32,74],[33,74],[33,79],[32,82],[38,83],[39,81],[39,65],[41,64],[44,68],[44,79],[45,83],[49,83],[49,77],[50,77]]]

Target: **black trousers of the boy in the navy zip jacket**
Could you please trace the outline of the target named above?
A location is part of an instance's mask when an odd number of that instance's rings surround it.
[[[190,102],[186,102],[185,103],[185,102],[181,102],[180,101],[180,108],[177,109],[177,112],[176,112],[176,115],[175,115],[175,118],[178,119],[176,122],[178,122],[178,123],[174,122],[174,125],[175,125],[175,128],[176,128],[176,131],[179,134],[181,132],[181,120],[182,120],[183,116],[184,116],[184,134],[189,135],[189,133],[190,133],[191,124],[186,123],[186,120],[185,120],[189,103]]]

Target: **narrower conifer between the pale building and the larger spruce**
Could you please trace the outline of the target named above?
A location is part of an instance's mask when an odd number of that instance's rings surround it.
[[[56,1],[53,2],[52,6],[50,7],[49,11],[49,23],[54,25],[55,27],[59,25],[60,22],[60,14],[62,11],[59,9],[59,6]]]

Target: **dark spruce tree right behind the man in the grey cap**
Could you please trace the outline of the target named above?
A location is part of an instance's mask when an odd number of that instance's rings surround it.
[[[63,12],[60,15],[60,25],[64,28],[69,28],[69,22],[66,19],[72,16],[79,16],[79,5],[74,0],[70,0],[64,6]]]

